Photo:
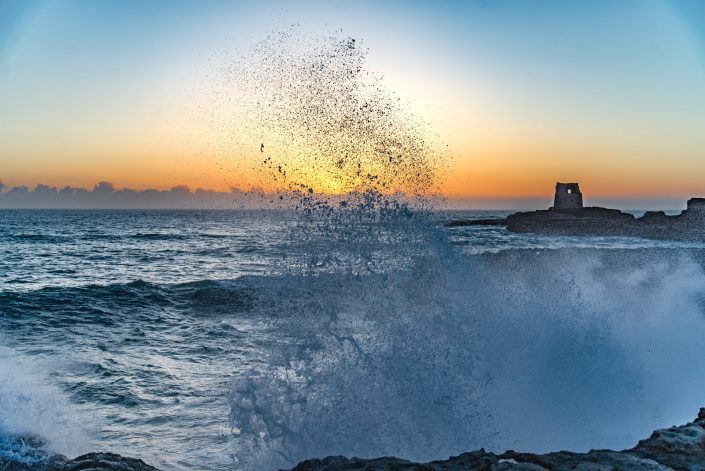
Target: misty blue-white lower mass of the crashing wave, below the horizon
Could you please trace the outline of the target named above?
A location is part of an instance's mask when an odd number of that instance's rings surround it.
[[[387,247],[409,255],[387,271],[312,253],[305,270],[261,279],[267,303],[252,315],[280,338],[232,386],[245,468],[626,447],[701,405],[698,252],[467,256],[428,225],[420,233],[415,245]],[[343,238],[375,258],[372,238]]]

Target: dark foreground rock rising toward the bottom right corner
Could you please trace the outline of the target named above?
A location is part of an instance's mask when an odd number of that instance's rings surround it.
[[[399,458],[344,458],[330,456],[299,463],[292,471],[544,471],[598,470],[705,470],[705,408],[690,423],[656,430],[634,448],[623,451],[591,450],[588,453],[559,451],[544,455],[507,451],[501,455],[485,450],[463,453],[447,460],[412,463]]]

